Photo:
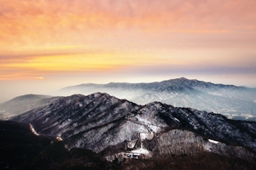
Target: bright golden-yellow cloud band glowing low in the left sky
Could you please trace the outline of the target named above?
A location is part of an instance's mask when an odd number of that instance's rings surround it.
[[[131,65],[150,65],[160,59],[141,53],[99,51],[82,54],[35,54],[1,57],[0,80],[40,77],[60,71],[113,71]],[[1,59],[2,58],[2,59]],[[8,59],[12,58],[12,59]],[[148,60],[149,59],[149,60]]]

